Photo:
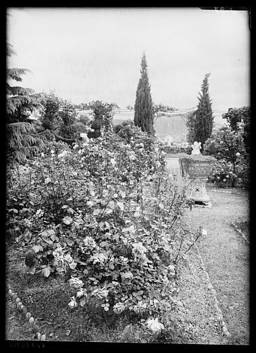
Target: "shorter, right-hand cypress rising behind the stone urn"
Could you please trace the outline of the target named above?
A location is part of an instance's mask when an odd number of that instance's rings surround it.
[[[199,92],[199,103],[197,110],[194,114],[188,116],[188,141],[190,142],[201,142],[202,149],[204,148],[205,141],[210,137],[213,130],[213,111],[212,101],[209,95],[209,84],[208,77],[210,74],[206,74],[204,81],[201,84],[201,92]]]

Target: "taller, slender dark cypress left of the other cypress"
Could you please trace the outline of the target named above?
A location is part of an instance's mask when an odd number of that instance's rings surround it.
[[[139,126],[142,131],[152,135],[155,134],[154,112],[147,68],[148,64],[144,53],[141,59],[141,77],[139,79],[136,92],[134,122],[135,125]]]

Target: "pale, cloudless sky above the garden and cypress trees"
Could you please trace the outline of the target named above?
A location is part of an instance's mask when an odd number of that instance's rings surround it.
[[[135,104],[146,53],[152,101],[193,108],[210,72],[213,110],[250,105],[248,11],[199,8],[8,8],[7,38],[28,68],[19,83],[72,103]],[[17,85],[17,83],[16,83]],[[215,113],[221,121],[221,113]]]

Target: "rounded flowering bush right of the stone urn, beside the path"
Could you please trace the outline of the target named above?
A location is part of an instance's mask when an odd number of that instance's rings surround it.
[[[230,125],[213,130],[204,145],[204,154],[214,156],[218,162],[210,174],[210,181],[225,186],[248,183],[248,154],[244,148],[242,130],[237,132]]]

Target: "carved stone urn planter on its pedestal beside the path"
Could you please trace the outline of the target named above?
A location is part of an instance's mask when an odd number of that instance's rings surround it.
[[[206,193],[206,181],[213,168],[214,157],[191,154],[179,158],[182,177],[188,178],[188,199],[197,205],[209,206],[210,197]]]

